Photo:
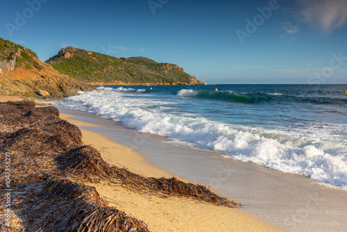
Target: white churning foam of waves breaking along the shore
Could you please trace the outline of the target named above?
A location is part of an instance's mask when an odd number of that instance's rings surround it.
[[[82,92],[65,100],[65,106],[102,115],[138,131],[164,135],[222,151],[228,157],[257,163],[282,172],[303,174],[316,181],[347,190],[347,141],[331,137],[334,124],[264,129],[214,122],[196,115],[167,113],[167,101],[125,97],[129,89],[103,88]],[[194,96],[194,90],[180,90],[178,96]],[[57,102],[58,103],[58,102]]]

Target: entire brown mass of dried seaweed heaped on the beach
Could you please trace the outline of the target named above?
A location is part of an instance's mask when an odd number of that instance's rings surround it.
[[[112,183],[162,196],[192,197],[219,206],[237,206],[202,185],[176,178],[155,179],[106,163],[82,142],[77,126],[60,119],[52,106],[31,102],[0,103],[0,174],[10,156],[12,227],[3,217],[0,231],[149,231],[142,221],[108,206],[92,183]],[[0,183],[0,194],[6,192]]]

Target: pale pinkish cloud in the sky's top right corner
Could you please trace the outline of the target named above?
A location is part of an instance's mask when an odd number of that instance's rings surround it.
[[[347,19],[346,0],[297,0],[305,22],[318,26],[323,31],[342,27]]]

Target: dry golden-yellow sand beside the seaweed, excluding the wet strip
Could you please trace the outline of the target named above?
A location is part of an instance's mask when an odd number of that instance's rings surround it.
[[[0,101],[8,100],[22,99],[0,98]],[[60,115],[60,117],[79,127],[98,127],[94,124],[69,119],[71,115]],[[112,142],[99,133],[86,130],[82,130],[82,133],[83,143],[98,149],[101,157],[111,165],[126,167],[131,172],[144,176],[158,178],[174,176],[170,172],[151,165],[142,154],[134,149]],[[187,181],[183,178],[180,180]],[[186,197],[169,197],[164,194],[129,190],[129,188],[105,181],[87,184],[96,188],[108,206],[113,206],[126,215],[142,220],[150,231],[281,231],[238,208],[215,206]]]

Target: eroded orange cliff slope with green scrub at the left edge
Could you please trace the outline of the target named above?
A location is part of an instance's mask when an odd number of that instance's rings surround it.
[[[60,74],[36,53],[0,38],[0,94],[37,98],[68,97],[92,85]]]

